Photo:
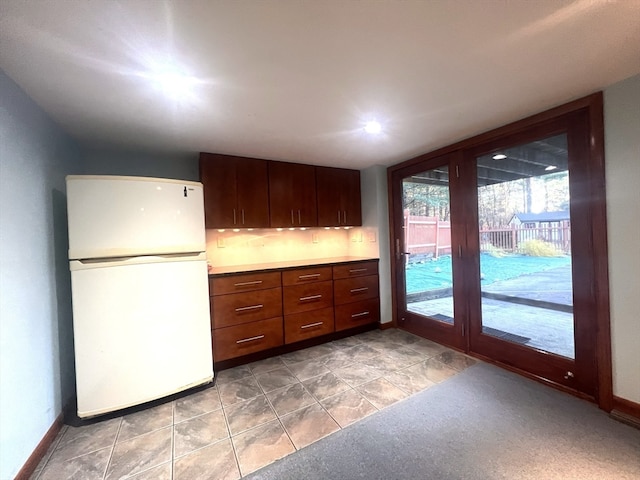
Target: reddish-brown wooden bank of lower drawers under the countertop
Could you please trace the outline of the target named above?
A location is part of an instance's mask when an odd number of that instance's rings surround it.
[[[216,362],[380,320],[377,260],[214,275],[209,287]]]

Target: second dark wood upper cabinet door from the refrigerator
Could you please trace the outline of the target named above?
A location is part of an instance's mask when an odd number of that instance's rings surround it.
[[[235,159],[237,225],[244,228],[269,226],[269,177],[267,161]]]

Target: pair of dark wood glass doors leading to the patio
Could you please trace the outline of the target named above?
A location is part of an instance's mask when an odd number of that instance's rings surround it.
[[[589,127],[561,115],[390,169],[398,327],[597,396]]]

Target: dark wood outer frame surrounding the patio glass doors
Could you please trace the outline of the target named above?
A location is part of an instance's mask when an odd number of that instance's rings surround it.
[[[538,113],[525,119],[510,123],[508,125],[490,130],[480,135],[462,140],[460,142],[439,148],[432,152],[420,155],[387,169],[387,185],[389,196],[389,236],[390,255],[395,259],[395,231],[397,220],[394,212],[395,203],[398,199],[393,195],[394,172],[413,165],[427,164],[430,160],[452,154],[460,154],[464,150],[499,140],[503,136],[512,136],[519,131],[534,128],[537,125],[551,122],[554,119],[569,114],[586,114],[588,118],[589,135],[589,158],[585,161],[585,178],[588,184],[585,188],[589,191],[589,226],[590,226],[590,253],[591,272],[593,275],[593,305],[595,308],[594,317],[596,324],[595,335],[595,365],[596,369],[596,389],[594,399],[598,406],[609,412],[613,408],[613,375],[611,360],[611,324],[610,324],[610,304],[609,304],[609,274],[607,255],[607,218],[606,218],[606,198],[605,198],[605,167],[604,167],[604,116],[603,116],[603,94],[597,92],[587,97],[574,100],[556,108]],[[605,228],[598,228],[605,226]],[[398,326],[398,295],[395,290],[399,272],[395,260],[391,262],[391,282],[394,288],[391,291],[392,301],[392,324]],[[485,358],[485,360],[487,360]],[[502,365],[509,368],[507,365]],[[513,368],[512,368],[513,369]],[[517,370],[517,369],[514,369]],[[550,382],[549,380],[536,377],[528,372],[517,370],[518,373],[535,378],[541,382],[548,383],[561,390],[583,396],[574,390],[567,389],[562,385]]]

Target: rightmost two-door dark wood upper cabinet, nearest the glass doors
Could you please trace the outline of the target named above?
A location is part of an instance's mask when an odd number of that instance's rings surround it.
[[[315,167],[318,225],[360,226],[360,172],[344,168]]]

